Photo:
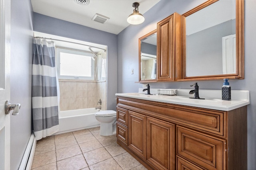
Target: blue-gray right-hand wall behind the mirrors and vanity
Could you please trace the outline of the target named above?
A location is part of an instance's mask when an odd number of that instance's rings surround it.
[[[130,25],[118,34],[118,93],[138,92],[142,84],[138,82],[138,38],[156,29],[156,23],[167,16],[178,12],[184,14],[206,0],[161,0],[144,14],[145,21],[140,25]],[[232,90],[250,90],[248,105],[248,170],[256,167],[256,1],[245,0],[244,20],[244,80],[230,80]],[[132,49],[132,50],[131,50]],[[130,70],[134,68],[134,74]],[[200,89],[218,89],[223,80],[198,81]],[[185,88],[190,89],[194,82],[150,83],[151,88]]]

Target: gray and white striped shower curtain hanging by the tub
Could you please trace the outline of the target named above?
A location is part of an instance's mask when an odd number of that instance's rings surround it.
[[[58,82],[53,41],[34,38],[32,63],[32,117],[36,140],[59,128]]]

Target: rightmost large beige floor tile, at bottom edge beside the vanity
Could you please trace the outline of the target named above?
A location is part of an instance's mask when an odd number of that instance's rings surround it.
[[[114,160],[124,169],[130,170],[140,165],[140,162],[132,157],[128,152],[114,157]],[[125,160],[125,161],[124,161]]]

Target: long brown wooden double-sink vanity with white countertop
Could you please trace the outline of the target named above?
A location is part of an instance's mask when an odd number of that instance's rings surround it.
[[[233,90],[231,101],[200,92],[205,100],[116,94],[117,143],[152,170],[246,170],[249,92]]]

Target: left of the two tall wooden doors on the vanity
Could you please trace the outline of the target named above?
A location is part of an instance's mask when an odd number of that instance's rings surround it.
[[[128,147],[142,158],[146,158],[146,116],[128,111]]]

